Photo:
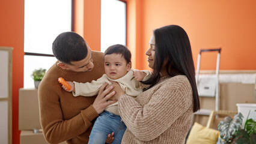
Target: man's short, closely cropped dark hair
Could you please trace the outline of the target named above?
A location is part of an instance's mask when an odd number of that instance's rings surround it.
[[[63,32],[52,43],[52,52],[56,59],[65,64],[85,59],[88,53],[87,42],[75,32]]]

